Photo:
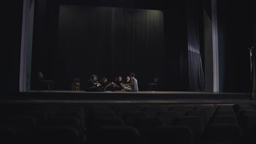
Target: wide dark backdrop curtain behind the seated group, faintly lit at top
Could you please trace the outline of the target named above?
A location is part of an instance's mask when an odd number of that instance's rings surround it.
[[[141,90],[165,79],[164,14],[160,10],[61,5],[55,57],[57,89],[74,77],[113,81],[134,72]]]

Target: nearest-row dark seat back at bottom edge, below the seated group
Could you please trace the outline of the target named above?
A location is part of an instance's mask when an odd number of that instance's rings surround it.
[[[88,138],[88,143],[131,144],[137,143],[139,133],[132,127],[104,127]]]

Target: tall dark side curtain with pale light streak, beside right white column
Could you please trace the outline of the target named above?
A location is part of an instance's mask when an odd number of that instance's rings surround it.
[[[189,90],[203,92],[205,78],[200,53],[198,1],[187,1]]]

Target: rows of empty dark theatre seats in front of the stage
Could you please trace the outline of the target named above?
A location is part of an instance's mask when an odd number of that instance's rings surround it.
[[[255,143],[254,108],[2,104],[0,143]]]

